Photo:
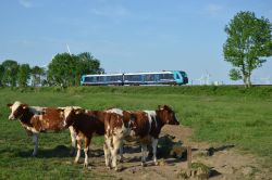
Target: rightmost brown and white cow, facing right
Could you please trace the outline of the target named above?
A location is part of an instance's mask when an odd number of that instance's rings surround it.
[[[113,124],[106,125],[106,140],[107,139],[115,139],[115,144],[113,144],[114,149],[122,150],[123,140],[129,141],[138,141],[141,144],[141,166],[146,165],[147,157],[147,144],[151,142],[152,145],[152,154],[153,154],[153,163],[158,165],[157,162],[157,145],[159,134],[161,132],[161,128],[164,125],[180,125],[175,112],[168,105],[159,105],[156,111],[137,111],[137,112],[128,112],[122,111],[119,108],[108,110],[108,112],[115,112],[118,114],[123,115],[123,121],[128,127],[128,136],[127,133],[120,133],[119,137],[114,133],[108,133],[108,131],[112,130],[122,130],[120,126],[115,126]],[[115,146],[114,146],[115,145]],[[109,146],[111,147],[111,146]],[[123,151],[120,151],[121,159],[123,158]],[[112,154],[114,156],[115,154]],[[106,157],[107,158],[107,157]],[[112,158],[115,159],[116,157]],[[106,162],[109,159],[106,159]]]

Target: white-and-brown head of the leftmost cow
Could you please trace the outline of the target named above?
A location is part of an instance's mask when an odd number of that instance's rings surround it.
[[[7,106],[11,108],[9,120],[14,120],[22,117],[24,110],[27,108],[26,104],[23,104],[18,101],[15,101],[13,104],[7,104]]]

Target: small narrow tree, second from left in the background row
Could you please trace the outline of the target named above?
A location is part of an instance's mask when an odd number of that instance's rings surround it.
[[[18,67],[17,82],[20,87],[27,87],[30,79],[30,66],[29,64],[22,64]]]

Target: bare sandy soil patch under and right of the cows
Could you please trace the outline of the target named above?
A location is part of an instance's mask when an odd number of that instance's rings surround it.
[[[193,162],[200,162],[211,167],[210,178],[218,179],[272,179],[271,169],[263,168],[260,158],[254,155],[245,154],[238,151],[234,145],[213,146],[209,143],[193,142],[190,140],[191,129],[180,126],[165,126],[162,129],[163,134],[175,137],[175,141],[181,140],[184,146],[190,145],[193,150]],[[101,151],[101,149],[100,149]],[[96,153],[95,153],[96,154]],[[100,154],[100,155],[99,155]],[[187,159],[178,158],[159,158],[159,165],[154,166],[151,159],[148,159],[146,167],[140,166],[140,149],[126,147],[125,160],[120,164],[122,170],[115,172],[107,169],[101,152],[97,156],[90,157],[91,170],[98,173],[108,173],[124,180],[170,180],[182,179],[178,173],[182,169],[187,169]]]

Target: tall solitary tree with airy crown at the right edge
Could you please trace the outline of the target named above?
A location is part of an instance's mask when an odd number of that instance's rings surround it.
[[[246,87],[251,86],[252,70],[272,55],[271,29],[268,18],[257,18],[252,12],[239,12],[226,25],[223,53],[224,60],[235,67],[230,72],[232,79],[243,78]]]

